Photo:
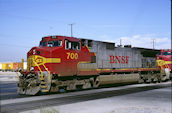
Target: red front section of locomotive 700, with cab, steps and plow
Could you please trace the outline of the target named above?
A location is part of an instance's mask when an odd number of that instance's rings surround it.
[[[53,81],[77,75],[78,64],[91,62],[92,55],[86,46],[81,47],[80,39],[65,36],[43,37],[39,47],[33,47],[27,53],[27,71],[22,71],[19,77],[19,94],[49,92]],[[58,90],[55,89],[54,91]]]

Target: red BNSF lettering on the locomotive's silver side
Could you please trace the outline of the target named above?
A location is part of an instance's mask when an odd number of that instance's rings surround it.
[[[110,63],[128,64],[129,56],[109,56]]]

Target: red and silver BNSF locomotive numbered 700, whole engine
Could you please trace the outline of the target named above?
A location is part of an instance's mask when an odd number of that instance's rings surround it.
[[[39,47],[27,53],[27,71],[20,71],[18,93],[35,95],[61,88],[167,80],[169,77],[156,63],[158,52],[74,37],[43,37]]]

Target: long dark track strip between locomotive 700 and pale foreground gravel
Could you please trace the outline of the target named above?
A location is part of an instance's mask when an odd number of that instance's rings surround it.
[[[158,84],[136,84],[113,88],[70,92],[64,94],[52,94],[51,96],[43,95],[19,99],[1,100],[1,112],[18,113],[20,111],[32,110],[48,106],[59,106],[88,100],[121,96],[165,87],[171,87],[171,82]]]

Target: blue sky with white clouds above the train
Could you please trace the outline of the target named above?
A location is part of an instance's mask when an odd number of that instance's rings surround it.
[[[170,0],[0,0],[0,62],[26,60],[43,36],[171,48]]]

